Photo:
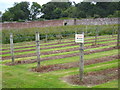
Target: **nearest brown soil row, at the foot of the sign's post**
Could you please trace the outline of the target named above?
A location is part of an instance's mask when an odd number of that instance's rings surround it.
[[[84,75],[82,81],[80,81],[79,75],[63,77],[62,80],[73,85],[84,85],[87,87],[92,87],[94,85],[99,85],[118,79],[118,69],[120,70],[120,68],[110,68],[101,71],[89,72]]]

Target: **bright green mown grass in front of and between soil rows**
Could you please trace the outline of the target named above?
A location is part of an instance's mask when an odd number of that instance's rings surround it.
[[[114,40],[99,42],[99,44],[109,43],[109,42],[114,42]],[[91,44],[87,44],[87,45],[91,45]],[[112,46],[113,45],[109,45],[109,46],[91,48],[86,50],[97,50],[97,49],[108,48]],[[48,49],[48,51],[57,50],[57,49],[61,50],[62,48]],[[67,49],[67,47],[63,47],[63,49]],[[75,53],[75,52],[72,52],[72,53]],[[58,53],[58,54],[51,54],[48,56],[65,55],[65,54],[70,54],[70,53]],[[118,54],[117,49],[104,51],[104,52],[97,52],[97,53],[84,55],[84,60],[89,61],[92,59],[97,59],[97,58],[112,56],[117,54]],[[34,58],[36,58],[36,56],[16,58],[15,60],[16,61],[30,60]],[[70,63],[70,62],[76,62],[76,61],[79,61],[79,56],[42,61],[41,65],[46,66],[46,65],[54,65],[54,64],[64,64],[64,63]],[[4,63],[6,62],[11,62],[11,60],[3,61],[3,81],[2,81],[3,88],[89,88],[81,85],[71,85],[69,83],[64,82],[61,79],[62,77],[65,77],[65,76],[79,74],[79,67],[69,68],[64,70],[57,70],[57,71],[52,71],[47,73],[37,73],[37,72],[30,71],[31,68],[37,66],[37,62],[31,63],[31,64],[15,65],[15,66],[6,66],[4,65]],[[112,61],[102,62],[102,63],[86,65],[84,67],[84,73],[100,71],[100,70],[115,68],[115,67],[118,67],[117,59]],[[104,88],[104,87],[117,88],[118,87],[117,82],[118,80],[113,80],[113,81],[110,81],[110,83],[107,82],[104,84],[95,85],[91,88]]]

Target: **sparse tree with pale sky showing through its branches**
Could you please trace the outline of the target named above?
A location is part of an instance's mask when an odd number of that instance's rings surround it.
[[[32,20],[37,19],[37,16],[41,14],[41,6],[37,2],[32,2],[30,9],[30,18]]]

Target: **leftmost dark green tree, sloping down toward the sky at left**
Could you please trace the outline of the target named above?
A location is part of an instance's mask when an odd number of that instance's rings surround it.
[[[14,3],[14,6],[8,8],[3,13],[3,21],[29,20],[29,2]]]

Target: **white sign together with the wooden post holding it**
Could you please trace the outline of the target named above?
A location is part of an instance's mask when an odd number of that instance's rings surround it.
[[[80,43],[80,80],[83,80],[84,75],[84,32],[82,34],[75,34],[75,42]]]

